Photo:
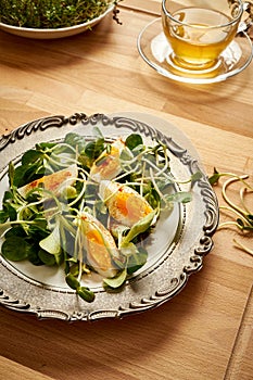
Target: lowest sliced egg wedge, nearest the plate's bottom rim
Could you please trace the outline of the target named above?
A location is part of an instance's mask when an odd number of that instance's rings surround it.
[[[103,277],[117,274],[113,257],[118,257],[117,246],[110,231],[92,215],[83,212],[80,216],[81,237],[87,252],[87,261]]]

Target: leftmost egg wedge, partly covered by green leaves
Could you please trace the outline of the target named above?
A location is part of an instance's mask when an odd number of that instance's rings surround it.
[[[78,176],[77,165],[71,165],[62,170],[49,174],[39,179],[36,179],[22,188],[18,188],[18,192],[22,197],[38,188],[40,183],[43,183],[43,188],[51,191],[53,194],[59,195],[66,187],[73,185]]]

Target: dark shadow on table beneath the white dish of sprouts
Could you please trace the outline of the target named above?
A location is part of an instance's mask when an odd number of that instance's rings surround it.
[[[98,50],[98,43],[101,43],[101,46],[106,43],[110,39],[110,30],[113,27],[112,23],[112,15],[107,15],[91,30],[58,39],[25,38],[0,30],[0,61],[4,62],[4,56],[8,56],[10,63],[10,55],[14,47],[15,56],[20,56],[20,62],[15,63],[17,66],[33,64],[33,69],[36,71],[78,64],[87,55],[92,56],[92,53]],[[62,51],[65,52],[64,55]]]

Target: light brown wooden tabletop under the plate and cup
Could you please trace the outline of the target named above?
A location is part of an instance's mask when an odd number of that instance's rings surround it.
[[[136,47],[159,14],[156,0],[125,0],[122,25],[109,16],[59,40],[0,31],[0,134],[48,115],[141,112],[180,128],[207,174],[248,174],[252,185],[253,64],[214,85],[160,76]],[[223,204],[220,185],[215,191]],[[252,250],[252,235],[217,231],[202,270],[176,297],[122,320],[38,320],[1,307],[0,379],[253,379],[253,257],[235,237]]]

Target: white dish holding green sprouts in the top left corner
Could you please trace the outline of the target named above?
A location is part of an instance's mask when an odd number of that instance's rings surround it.
[[[110,5],[107,10],[104,13],[102,13],[99,17],[96,17],[87,23],[64,27],[64,28],[36,29],[36,28],[25,28],[25,27],[12,26],[12,25],[0,23],[0,29],[20,37],[27,37],[27,38],[35,38],[35,39],[55,39],[55,38],[71,37],[92,28],[94,25],[100,23],[109,13],[111,13],[113,9],[114,9],[114,4]]]

